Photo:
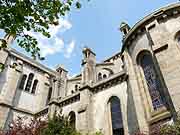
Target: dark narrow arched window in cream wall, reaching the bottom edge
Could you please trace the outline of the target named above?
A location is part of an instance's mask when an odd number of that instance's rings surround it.
[[[124,135],[121,104],[118,97],[111,97],[109,100],[111,111],[112,135]]]

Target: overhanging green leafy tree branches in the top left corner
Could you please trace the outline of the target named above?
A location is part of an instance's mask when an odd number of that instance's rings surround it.
[[[40,48],[35,37],[26,31],[39,32],[50,38],[50,25],[58,25],[58,19],[70,11],[74,0],[0,0],[0,29],[17,39],[17,43],[35,59]],[[75,3],[81,8],[79,1]],[[7,43],[1,39],[0,49]]]

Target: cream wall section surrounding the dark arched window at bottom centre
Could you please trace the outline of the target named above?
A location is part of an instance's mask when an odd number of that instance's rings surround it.
[[[111,88],[98,92],[92,97],[92,113],[93,113],[93,129],[94,131],[102,131],[104,135],[111,134],[110,110],[108,106],[109,99],[117,96],[120,99],[121,111],[123,117],[123,125],[126,134],[128,133],[127,124],[127,83],[123,82]]]

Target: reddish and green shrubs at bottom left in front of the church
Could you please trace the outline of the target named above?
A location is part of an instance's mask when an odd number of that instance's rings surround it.
[[[0,135],[82,135],[71,127],[67,117],[55,115],[46,120],[33,119],[25,123],[25,119],[18,117],[10,125],[9,129],[0,130]],[[88,135],[88,134],[87,134]],[[96,132],[94,135],[103,135]]]

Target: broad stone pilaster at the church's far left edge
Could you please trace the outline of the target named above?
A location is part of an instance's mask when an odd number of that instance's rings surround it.
[[[7,85],[4,85],[2,89],[2,99],[0,100],[0,126],[5,128],[7,126],[7,120],[13,106],[15,99],[18,82],[22,72],[22,62],[17,61],[8,67],[8,79]]]

